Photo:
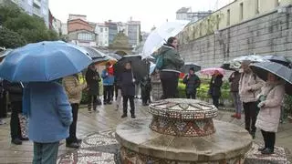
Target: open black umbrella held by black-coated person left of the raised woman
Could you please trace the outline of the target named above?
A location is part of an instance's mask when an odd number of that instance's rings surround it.
[[[142,60],[141,56],[123,56],[114,65],[114,75],[119,76],[124,71],[124,66],[127,62],[131,63],[134,77],[140,81],[143,77],[149,74],[149,62]]]

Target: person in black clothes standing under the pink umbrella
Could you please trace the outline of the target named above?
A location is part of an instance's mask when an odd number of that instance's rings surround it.
[[[213,104],[216,108],[219,106],[219,98],[221,97],[222,78],[223,75],[219,71],[215,71],[210,82],[209,95],[213,98]]]

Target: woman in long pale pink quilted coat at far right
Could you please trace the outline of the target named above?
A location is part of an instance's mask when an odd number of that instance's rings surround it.
[[[274,153],[276,131],[281,116],[281,104],[285,95],[284,83],[274,74],[268,73],[267,82],[258,95],[260,111],[255,123],[260,128],[265,142],[265,147],[258,149],[263,154]]]

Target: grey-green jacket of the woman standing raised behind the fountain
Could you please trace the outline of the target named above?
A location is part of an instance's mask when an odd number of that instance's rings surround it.
[[[164,45],[160,50],[159,56],[163,56],[162,71],[180,73],[180,70],[184,65],[184,61],[176,49],[174,49],[172,46]]]

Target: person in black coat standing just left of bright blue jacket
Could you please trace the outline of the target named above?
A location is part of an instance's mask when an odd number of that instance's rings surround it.
[[[93,105],[93,110],[97,110],[97,106],[99,104],[98,102],[98,97],[99,97],[99,81],[100,76],[99,76],[99,72],[97,71],[97,68],[91,64],[89,65],[88,71],[86,72],[85,75],[86,78],[86,82],[88,84],[89,87],[89,111],[91,111],[92,105]]]

